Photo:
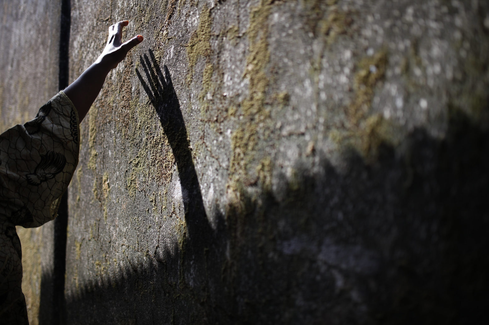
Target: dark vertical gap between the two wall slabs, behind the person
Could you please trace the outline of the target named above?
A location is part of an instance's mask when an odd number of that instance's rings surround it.
[[[70,0],[61,0],[60,47],[59,47],[59,89],[68,86],[68,47],[71,23]],[[54,220],[54,270],[53,270],[53,325],[66,324],[65,272],[66,239],[68,225],[68,193],[61,199],[58,217]]]

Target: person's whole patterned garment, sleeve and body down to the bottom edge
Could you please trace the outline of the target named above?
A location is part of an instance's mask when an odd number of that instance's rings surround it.
[[[56,217],[78,163],[78,113],[64,92],[36,118],[0,135],[0,320],[28,324],[22,294],[22,251],[16,225]]]

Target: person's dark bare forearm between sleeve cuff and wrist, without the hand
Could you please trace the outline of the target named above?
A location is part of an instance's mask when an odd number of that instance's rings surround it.
[[[65,94],[78,111],[80,122],[97,98],[110,70],[107,64],[97,60],[65,89]]]

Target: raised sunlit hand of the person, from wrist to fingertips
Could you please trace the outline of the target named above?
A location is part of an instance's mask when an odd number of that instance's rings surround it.
[[[119,21],[109,27],[109,38],[107,45],[105,45],[104,51],[98,57],[95,63],[101,63],[109,70],[113,69],[122,61],[127,53],[137,44],[143,41],[141,35],[133,37],[131,40],[122,42],[122,27],[129,24],[128,20]]]

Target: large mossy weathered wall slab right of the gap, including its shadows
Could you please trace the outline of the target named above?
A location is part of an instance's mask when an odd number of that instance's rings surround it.
[[[487,1],[72,3],[69,324],[470,323],[488,302]]]

